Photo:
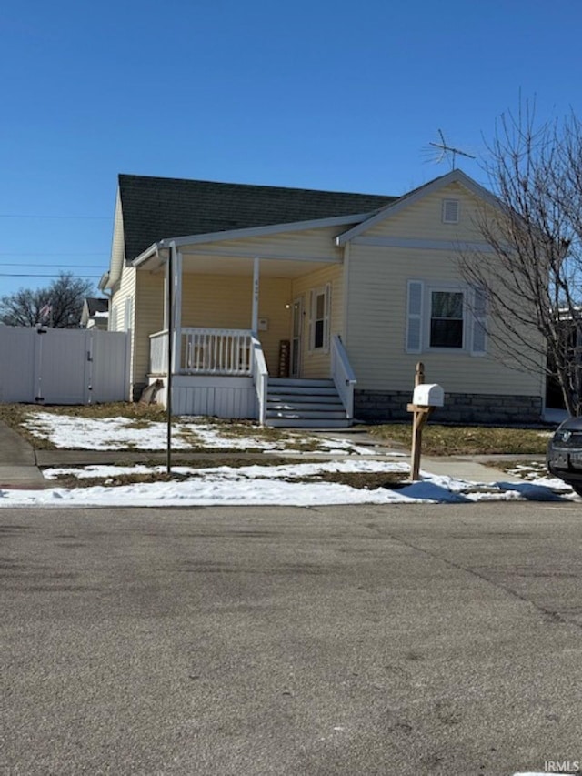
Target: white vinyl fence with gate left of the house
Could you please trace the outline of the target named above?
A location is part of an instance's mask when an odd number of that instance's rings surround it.
[[[129,334],[0,326],[0,402],[91,404],[129,393]]]

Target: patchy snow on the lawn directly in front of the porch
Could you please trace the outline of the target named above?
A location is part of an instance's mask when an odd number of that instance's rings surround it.
[[[167,426],[160,421],[135,421],[132,418],[77,418],[50,412],[35,412],[25,421],[35,437],[50,439],[57,448],[77,450],[165,450]],[[262,438],[246,427],[245,436],[232,436],[228,424],[213,424],[201,418],[181,418],[173,426],[172,448],[285,450],[306,441],[327,453],[373,455],[374,448],[364,448],[346,439],[318,438],[292,431],[280,439]],[[396,453],[397,455],[397,453]],[[404,455],[404,454],[402,454]]]

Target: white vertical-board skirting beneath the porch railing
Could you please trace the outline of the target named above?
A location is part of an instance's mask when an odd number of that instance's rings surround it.
[[[150,378],[154,382],[156,378]],[[159,378],[158,378],[159,379]],[[167,378],[156,402],[166,406]],[[257,418],[256,391],[252,378],[212,375],[175,375],[172,378],[172,413],[216,418]]]

